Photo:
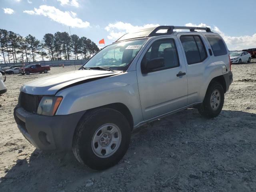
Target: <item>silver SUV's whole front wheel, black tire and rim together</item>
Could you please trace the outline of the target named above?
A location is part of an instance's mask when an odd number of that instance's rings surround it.
[[[73,138],[76,159],[94,170],[104,170],[117,164],[130,143],[130,125],[123,114],[110,108],[100,108],[85,114]]]

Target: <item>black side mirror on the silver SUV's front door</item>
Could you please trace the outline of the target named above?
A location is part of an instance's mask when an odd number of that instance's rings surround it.
[[[146,74],[148,72],[153,71],[154,69],[158,69],[164,67],[164,58],[163,57],[158,57],[149,60],[146,62],[144,59],[141,62],[141,72],[142,74]]]

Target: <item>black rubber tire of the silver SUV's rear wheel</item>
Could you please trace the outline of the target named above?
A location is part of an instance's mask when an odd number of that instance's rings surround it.
[[[219,93],[218,95],[220,95],[220,98],[219,98],[220,101],[218,106],[216,106],[216,108],[213,109],[216,103],[215,104],[212,103],[211,96],[215,94],[214,91],[216,90]],[[216,98],[216,100],[218,100],[218,97]],[[224,90],[222,88],[222,85],[219,82],[212,81],[208,86],[203,103],[198,108],[198,112],[206,118],[214,118],[220,114],[223,104],[224,104]]]

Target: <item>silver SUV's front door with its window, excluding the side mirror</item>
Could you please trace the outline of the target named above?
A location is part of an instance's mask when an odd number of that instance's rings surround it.
[[[182,54],[178,52],[181,52],[181,48],[176,37],[156,38],[138,60],[136,71],[144,120],[187,105],[186,67]],[[164,66],[142,74],[142,60],[147,62],[154,58],[164,58]]]

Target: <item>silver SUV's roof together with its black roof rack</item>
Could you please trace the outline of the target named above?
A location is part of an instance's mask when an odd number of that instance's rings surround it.
[[[169,35],[172,34],[174,29],[188,29],[191,32],[195,32],[195,30],[205,30],[206,32],[212,32],[208,27],[185,27],[185,26],[158,26],[152,28],[146,28],[142,30],[138,30],[134,33],[127,33],[120,37],[116,42],[128,39],[134,39],[139,37],[151,37],[157,35]],[[159,30],[167,30],[165,33],[159,33]]]

